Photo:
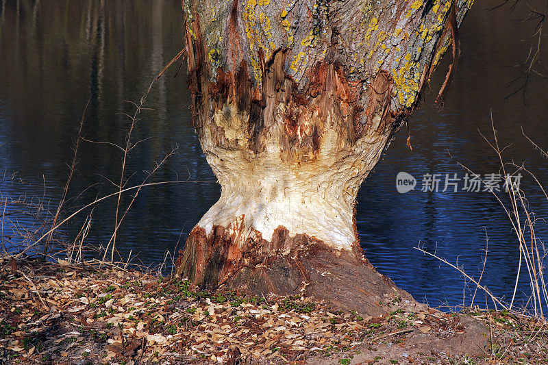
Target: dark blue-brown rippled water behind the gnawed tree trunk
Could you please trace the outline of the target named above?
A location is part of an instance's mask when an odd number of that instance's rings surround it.
[[[379,270],[417,299],[430,304],[462,303],[462,277],[437,260],[413,249],[419,242],[429,251],[479,275],[482,250],[489,237],[484,284],[510,296],[519,247],[508,218],[497,200],[486,192],[421,192],[399,194],[395,177],[406,171],[419,180],[426,173],[465,171],[498,173],[497,156],[481,131],[490,134],[490,110],[501,144],[512,144],[507,158],[523,162],[547,185],[546,160],[522,136],[525,133],[547,148],[548,86],[536,77],[527,88],[524,105],[519,97],[504,101],[506,88],[518,75],[514,64],[528,52],[532,26],[514,20],[523,14],[507,10],[486,12],[490,1],[475,5],[460,32],[462,58],[445,108],[432,108],[435,90],[410,121],[413,151],[406,147],[406,131],[393,142],[382,162],[360,190],[358,230],[367,257]],[[182,12],[176,0],[1,1],[0,10],[0,170],[18,171],[21,183],[0,183],[0,192],[26,194],[55,209],[71,160],[77,124],[86,112],[86,139],[121,144],[129,126],[123,113],[138,101],[153,77],[182,49]],[[445,60],[446,63],[449,60]],[[445,69],[446,66],[440,68]],[[173,252],[219,197],[188,110],[185,71],[173,79],[176,67],[154,84],[135,140],[147,138],[130,156],[127,171],[136,172],[128,184],[139,184],[172,145],[178,154],[169,159],[153,181],[199,180],[146,188],[125,218],[117,247],[122,255],[138,252],[136,260],[156,264]],[[443,72],[432,79],[435,89]],[[108,179],[119,179],[122,155],[108,144],[85,142],[69,197],[71,207],[85,205],[116,189]],[[547,203],[523,177],[531,206],[546,218]],[[129,186],[129,185],[128,185]],[[125,196],[124,205],[131,197]],[[114,227],[114,200],[98,205],[92,214],[88,242],[105,244]],[[88,212],[87,212],[88,213]],[[84,222],[77,216],[62,230],[73,238]],[[548,236],[538,224],[538,238]],[[180,245],[179,244],[179,245]],[[523,271],[522,271],[523,272]],[[522,297],[530,289],[525,275]],[[466,297],[469,298],[469,290]],[[483,297],[482,297],[483,298]]]

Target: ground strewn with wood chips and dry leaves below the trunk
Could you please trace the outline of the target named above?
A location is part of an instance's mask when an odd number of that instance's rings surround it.
[[[202,292],[121,268],[0,259],[5,364],[539,364],[545,323],[506,312],[364,316],[301,297]]]

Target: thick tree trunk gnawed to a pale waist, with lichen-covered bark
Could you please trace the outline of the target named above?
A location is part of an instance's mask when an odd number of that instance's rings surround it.
[[[412,302],[363,257],[356,195],[451,45],[456,64],[471,3],[183,0],[195,129],[222,193],[178,275],[371,314]]]

